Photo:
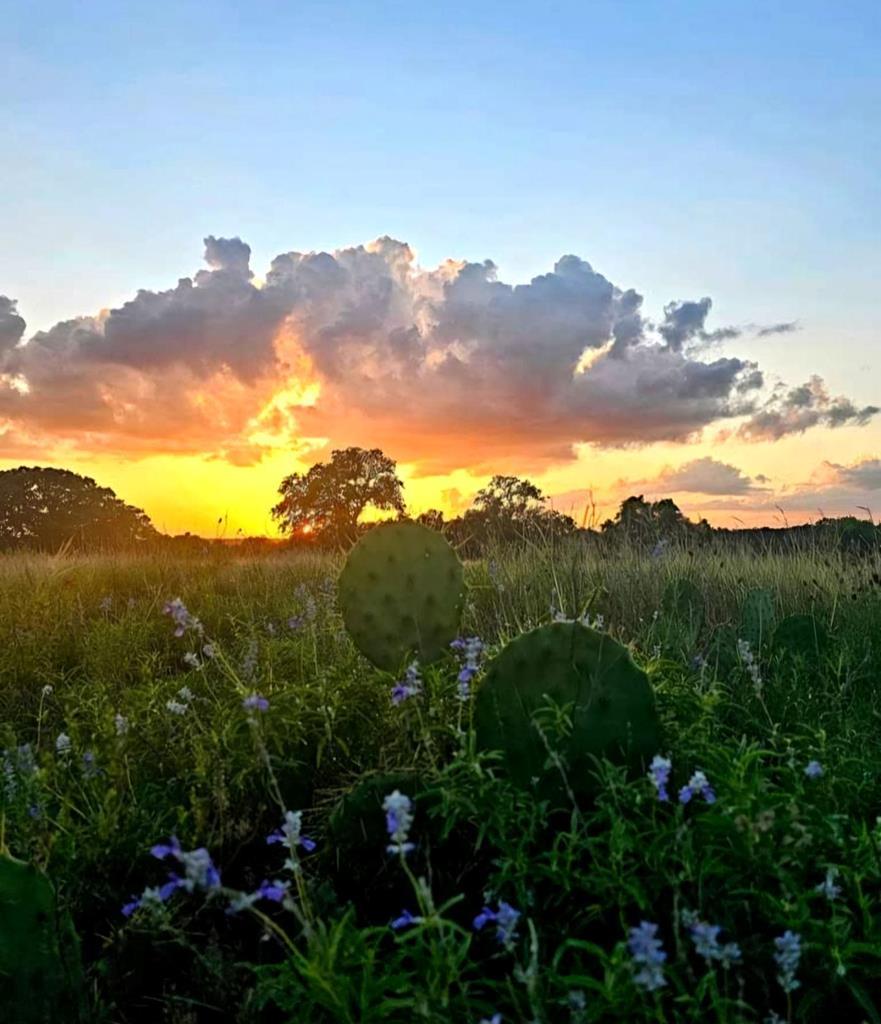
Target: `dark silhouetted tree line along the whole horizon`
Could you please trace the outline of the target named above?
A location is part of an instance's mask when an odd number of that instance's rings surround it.
[[[410,518],[395,462],[378,449],[335,450],[328,462],[282,480],[271,515],[283,542],[249,538],[237,543],[254,553],[280,546],[344,549],[370,528],[363,519],[368,509]],[[699,545],[730,535],[762,546],[831,535],[844,547],[864,550],[877,547],[881,535],[872,522],[852,516],[785,529],[718,529],[706,519],[689,520],[669,498],[649,502],[641,495],[625,499],[598,530],[585,529],[551,508],[531,480],[504,475],[494,476],[480,488],[461,515],[447,519],[440,510],[429,509],[413,518],[443,530],[463,557],[479,556],[490,544],[552,541],[577,534],[613,545],[635,543],[656,555],[670,545]],[[201,551],[227,543],[190,534],[162,534],[142,509],[71,470],[19,466],[0,471],[0,551],[145,551],[156,547]]]

